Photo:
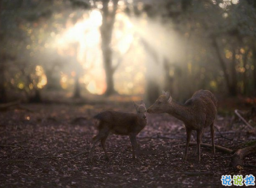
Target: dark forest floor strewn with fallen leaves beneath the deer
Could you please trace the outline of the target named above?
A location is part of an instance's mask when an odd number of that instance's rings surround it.
[[[222,175],[256,177],[255,168],[234,172],[231,154],[217,150],[213,155],[206,147],[201,147],[201,163],[193,156],[194,146],[182,161],[185,129],[167,114],[147,116],[147,126],[137,136],[140,162],[132,160],[127,136],[109,135],[111,160],[105,161],[98,144],[89,163],[91,138],[97,134],[92,117],[102,110],[135,113],[129,101],[23,104],[1,111],[0,187],[222,187]],[[231,116],[218,115],[215,126],[222,134],[215,131],[215,144],[236,150],[255,141],[245,126],[237,123],[231,128],[230,122]],[[211,144],[209,128],[203,143]],[[256,156],[246,156],[245,163],[255,165]]]

